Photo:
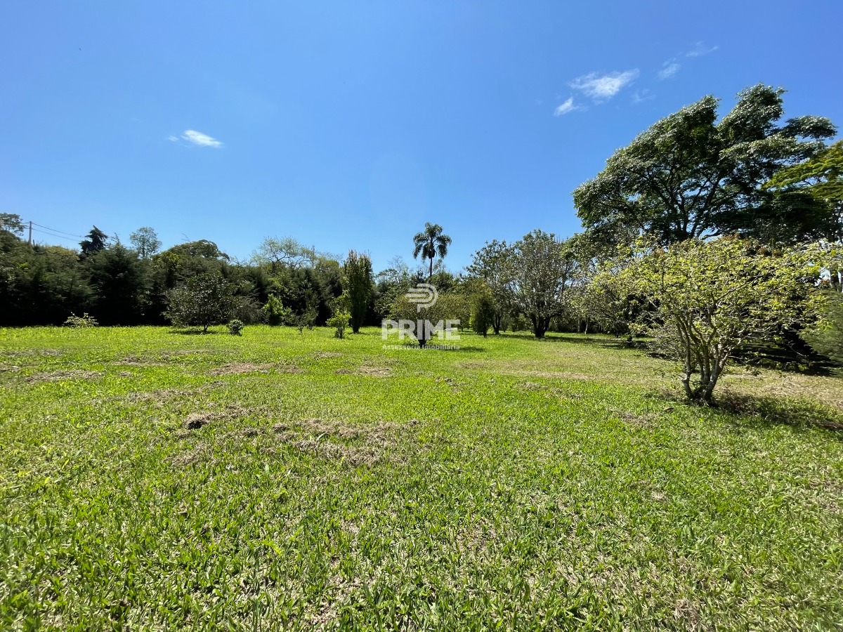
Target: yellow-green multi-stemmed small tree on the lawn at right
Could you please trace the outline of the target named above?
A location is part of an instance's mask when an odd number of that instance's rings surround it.
[[[820,249],[771,252],[722,238],[640,247],[638,254],[620,280],[629,292],[647,297],[652,309],[639,324],[679,358],[689,399],[711,403],[730,356],[746,341],[772,340],[781,329],[817,322],[824,312],[824,293],[806,283],[824,267]]]

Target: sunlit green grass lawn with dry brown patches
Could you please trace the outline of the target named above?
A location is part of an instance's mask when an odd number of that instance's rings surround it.
[[[0,629],[841,629],[843,379],[458,344],[0,329]]]

